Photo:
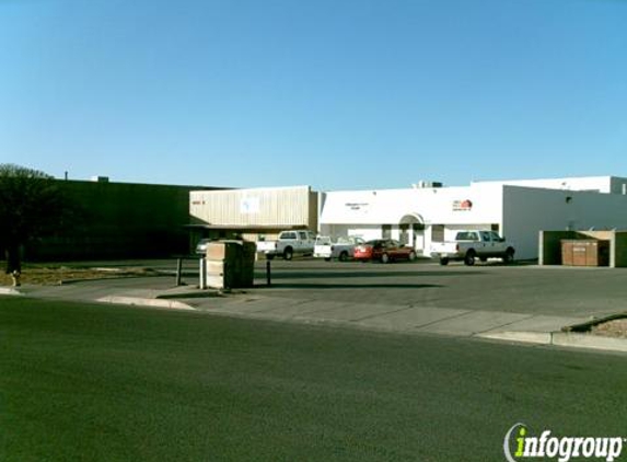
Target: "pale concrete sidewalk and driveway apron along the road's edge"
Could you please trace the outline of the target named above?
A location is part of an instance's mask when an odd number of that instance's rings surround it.
[[[565,326],[591,321],[583,316],[307,300],[302,297],[264,294],[263,287],[222,293],[217,290],[199,290],[193,286],[172,287],[172,279],[164,277],[0,288],[1,294],[178,309],[405,334],[426,333],[627,351],[625,339],[562,332]]]

